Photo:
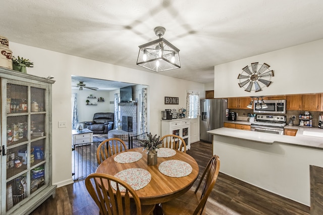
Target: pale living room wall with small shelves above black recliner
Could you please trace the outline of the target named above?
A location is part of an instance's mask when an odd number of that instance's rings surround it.
[[[114,108],[110,105],[110,91],[107,90],[90,90],[90,89],[83,89],[83,90],[78,90],[78,89],[72,89],[72,93],[77,93],[77,112],[78,112],[78,117],[79,117],[79,122],[84,122],[84,121],[92,121],[93,115],[95,113],[106,113],[106,112],[111,112],[114,113]],[[95,98],[87,98],[92,94],[93,97]],[[97,98],[103,97],[104,102],[98,102]],[[91,103],[96,103],[97,105],[86,105],[86,99],[88,99]],[[72,112],[71,112],[72,114]]]

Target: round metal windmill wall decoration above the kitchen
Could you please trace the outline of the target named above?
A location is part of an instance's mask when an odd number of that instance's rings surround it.
[[[259,70],[258,66],[260,67]],[[269,67],[270,66],[266,63],[258,64],[258,62],[252,63],[251,66],[244,67],[242,69],[243,72],[238,76],[240,81],[239,86],[245,88],[245,91],[247,92],[250,92],[251,90],[259,92],[264,86],[268,87],[273,83],[271,78],[274,77],[274,71],[269,70]]]

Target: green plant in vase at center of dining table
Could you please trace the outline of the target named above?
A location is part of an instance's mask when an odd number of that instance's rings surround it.
[[[160,136],[153,135],[149,133],[146,139],[139,139],[139,143],[143,146],[143,150],[147,150],[147,165],[156,165],[157,164],[157,151],[159,145],[163,141],[159,140]]]

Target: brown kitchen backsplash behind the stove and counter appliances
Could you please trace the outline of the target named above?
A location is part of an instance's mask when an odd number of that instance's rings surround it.
[[[230,109],[230,112],[236,112],[238,114],[237,120],[248,121],[248,114],[253,114],[252,109]],[[318,116],[323,115],[323,112],[319,111],[310,111],[310,115],[312,115],[312,127],[317,128],[318,126]],[[289,123],[290,118],[292,116],[296,117],[296,120],[293,120],[293,125],[299,125],[298,115],[304,114],[304,111],[286,111],[286,114],[276,114],[286,116],[286,124]],[[260,114],[261,115],[261,114]]]

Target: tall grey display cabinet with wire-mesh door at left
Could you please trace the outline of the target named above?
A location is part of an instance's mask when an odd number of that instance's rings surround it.
[[[28,214],[49,196],[53,80],[0,68],[1,214]]]

